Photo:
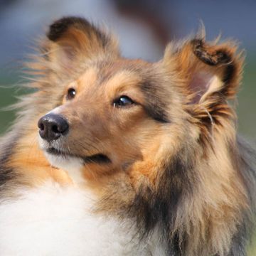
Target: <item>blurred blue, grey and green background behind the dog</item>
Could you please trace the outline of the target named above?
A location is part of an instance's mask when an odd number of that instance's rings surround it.
[[[85,16],[117,34],[127,58],[159,60],[166,43],[196,33],[203,21],[207,39],[222,34],[246,50],[243,85],[238,95],[238,128],[256,139],[256,1],[255,0],[0,0],[0,134],[14,119],[3,108],[23,93],[22,61],[38,36],[61,16]],[[250,247],[250,254],[256,250]]]

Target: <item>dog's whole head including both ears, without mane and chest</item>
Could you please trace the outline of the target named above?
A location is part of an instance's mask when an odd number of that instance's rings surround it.
[[[241,65],[235,46],[196,38],[169,45],[157,63],[127,60],[112,37],[81,18],[53,23],[48,38],[58,103],[38,127],[54,166],[73,159],[87,178],[132,170],[135,180],[154,183],[165,159],[186,147],[203,154],[213,125],[217,131],[233,118],[227,100]]]

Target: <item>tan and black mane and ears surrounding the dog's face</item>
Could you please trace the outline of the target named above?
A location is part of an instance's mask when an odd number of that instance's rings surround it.
[[[167,46],[153,71],[139,62],[127,66],[144,78],[153,106],[146,111],[161,125],[161,144],[154,149],[152,142],[142,161],[100,179],[95,214],[132,220],[144,241],[157,234],[166,255],[245,255],[254,228],[256,153],[238,137],[230,104],[242,74],[237,51],[233,42],[196,36]],[[53,23],[39,52],[27,64],[34,92],[16,105],[18,118],[1,140],[1,197],[17,184],[31,186],[17,168],[24,154],[27,169],[48,166],[39,150],[33,159],[30,147],[38,117],[60,105],[65,85],[92,64],[122,60],[113,36],[75,17]]]

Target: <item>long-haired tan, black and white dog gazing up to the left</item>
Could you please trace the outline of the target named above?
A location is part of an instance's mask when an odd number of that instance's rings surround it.
[[[203,33],[156,63],[85,18],[55,21],[1,139],[1,255],[246,255],[255,150],[244,57]]]

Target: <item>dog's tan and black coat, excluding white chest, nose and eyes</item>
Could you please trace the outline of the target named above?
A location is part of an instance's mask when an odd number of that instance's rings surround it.
[[[63,147],[78,156],[110,154],[110,161],[82,169],[97,196],[95,214],[136,223],[142,243],[159,234],[166,255],[246,255],[256,154],[238,137],[228,103],[242,75],[235,43],[196,36],[169,44],[162,60],[146,63],[122,58],[115,39],[84,18],[55,21],[47,37],[43,54],[28,63],[36,75],[28,86],[37,91],[18,104],[23,110],[1,149],[1,197],[16,191],[14,180],[37,187],[51,178],[73,186],[33,143],[37,120],[63,106],[60,114],[73,125]],[[80,100],[63,98],[70,84]],[[122,87],[139,104],[113,117],[100,92]]]

